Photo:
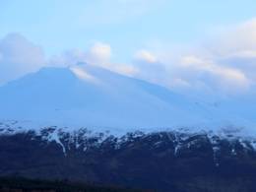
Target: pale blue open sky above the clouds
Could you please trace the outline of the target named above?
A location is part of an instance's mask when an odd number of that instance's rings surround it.
[[[47,55],[102,41],[121,60],[152,41],[196,41],[255,10],[255,0],[1,0],[0,36],[22,33]]]

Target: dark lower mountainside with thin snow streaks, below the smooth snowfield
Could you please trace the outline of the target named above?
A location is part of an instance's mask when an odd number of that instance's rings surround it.
[[[0,175],[160,192],[255,192],[254,147],[254,139],[230,132],[134,132],[118,138],[87,129],[9,129],[0,136]]]

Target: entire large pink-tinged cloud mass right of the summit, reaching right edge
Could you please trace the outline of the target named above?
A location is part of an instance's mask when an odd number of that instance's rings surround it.
[[[256,19],[224,28],[200,44],[184,45],[182,50],[176,46],[166,49],[169,46],[163,43],[154,52],[147,48],[138,51],[135,54],[137,62],[140,61],[138,76],[152,80],[154,75],[155,83],[171,89],[186,88],[215,95],[243,94],[253,89]]]

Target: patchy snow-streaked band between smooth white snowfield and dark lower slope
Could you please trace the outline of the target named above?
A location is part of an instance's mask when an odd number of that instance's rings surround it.
[[[116,130],[99,131],[88,128],[70,129],[70,127],[46,126],[29,128],[30,122],[5,121],[0,123],[0,136],[12,137],[23,135],[30,140],[39,140],[46,144],[55,143],[67,156],[70,151],[81,151],[87,153],[90,149],[100,149],[104,145],[110,149],[120,150],[127,145],[136,145],[138,141],[150,143],[151,148],[169,146],[166,150],[173,148],[173,156],[179,157],[184,151],[193,151],[200,146],[212,148],[213,160],[216,166],[220,165],[220,156],[228,152],[231,157],[237,153],[255,153],[256,135],[248,135],[241,129],[220,129],[215,131],[191,130],[191,129],[165,129],[161,131],[133,130],[122,132]],[[109,144],[109,145],[108,145]],[[104,147],[103,147],[104,148]],[[208,149],[208,148],[203,148]],[[109,149],[108,149],[109,150]]]

